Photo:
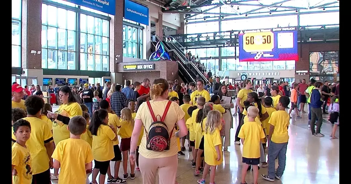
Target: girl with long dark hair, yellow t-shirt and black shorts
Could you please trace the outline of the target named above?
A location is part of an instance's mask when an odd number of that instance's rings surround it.
[[[99,183],[105,183],[110,161],[114,158],[113,141],[118,140],[117,130],[114,126],[108,125],[107,110],[100,109],[94,112],[89,130],[93,135],[92,150],[95,163],[91,183],[97,183],[99,172]]]

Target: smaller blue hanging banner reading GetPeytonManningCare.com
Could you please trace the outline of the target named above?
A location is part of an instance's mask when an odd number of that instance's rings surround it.
[[[149,25],[149,8],[130,0],[124,1],[124,18]]]

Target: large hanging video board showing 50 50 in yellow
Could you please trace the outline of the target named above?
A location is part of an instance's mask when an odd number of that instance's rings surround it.
[[[296,27],[239,33],[239,61],[298,61]]]

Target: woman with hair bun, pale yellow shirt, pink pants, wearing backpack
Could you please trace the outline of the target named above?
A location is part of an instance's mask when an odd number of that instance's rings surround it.
[[[151,101],[150,106],[155,116],[163,116],[166,109],[166,105],[169,100],[168,98],[168,82],[165,79],[156,79],[153,82],[153,86],[150,89]],[[150,110],[147,106],[147,102],[140,105],[137,116],[135,116],[135,124],[132,133],[130,159],[131,162],[135,161],[135,151],[137,149],[138,138],[141,129],[145,127],[143,138],[141,139],[139,147],[139,167],[141,171],[141,177],[144,183],[156,183],[155,178],[158,174],[159,184],[176,183],[177,176],[177,164],[178,164],[178,138],[184,137],[188,131],[184,121],[185,113],[179,105],[175,102],[170,102],[170,108],[165,116],[164,123],[167,125],[168,132],[171,133],[174,125],[176,124],[179,131],[173,130],[170,135],[170,149],[168,151],[152,151],[146,148],[146,136],[153,118],[150,114]]]

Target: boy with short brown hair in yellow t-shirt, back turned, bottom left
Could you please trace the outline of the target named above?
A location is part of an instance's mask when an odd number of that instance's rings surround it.
[[[86,132],[86,126],[87,122],[84,117],[72,117],[67,127],[70,138],[56,145],[52,158],[55,159],[53,167],[61,168],[59,183],[86,182],[86,173],[91,171],[94,159],[90,145],[80,138]]]

